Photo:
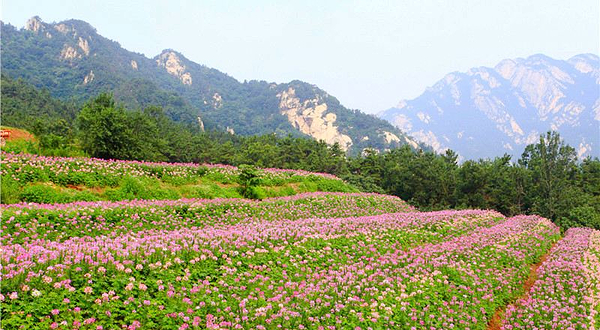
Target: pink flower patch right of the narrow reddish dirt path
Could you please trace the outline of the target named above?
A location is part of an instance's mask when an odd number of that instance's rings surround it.
[[[502,329],[600,329],[600,231],[569,229]]]

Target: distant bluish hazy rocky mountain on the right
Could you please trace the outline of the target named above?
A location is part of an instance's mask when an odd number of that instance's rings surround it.
[[[600,156],[600,59],[544,55],[503,60],[446,75],[421,96],[380,118],[436,151],[467,159],[520,156],[539,134],[556,130],[578,156]]]

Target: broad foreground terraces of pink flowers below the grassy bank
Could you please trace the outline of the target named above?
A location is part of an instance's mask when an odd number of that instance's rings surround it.
[[[3,329],[600,326],[600,232],[385,195],[4,205],[1,247]]]

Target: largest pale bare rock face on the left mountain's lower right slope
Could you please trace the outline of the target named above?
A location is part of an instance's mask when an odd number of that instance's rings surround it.
[[[338,131],[335,126],[337,119],[334,113],[327,112],[327,104],[320,97],[300,102],[296,97],[296,91],[290,87],[287,91],[277,94],[279,98],[279,110],[288,121],[300,132],[317,140],[323,140],[327,144],[339,143],[346,151],[352,146],[352,139]]]

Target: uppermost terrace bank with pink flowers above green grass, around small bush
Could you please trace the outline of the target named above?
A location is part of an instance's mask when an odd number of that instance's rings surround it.
[[[236,168],[193,166],[3,154],[1,202],[243,197]],[[259,173],[262,178],[253,188],[259,198],[316,191],[357,192],[336,178]]]

